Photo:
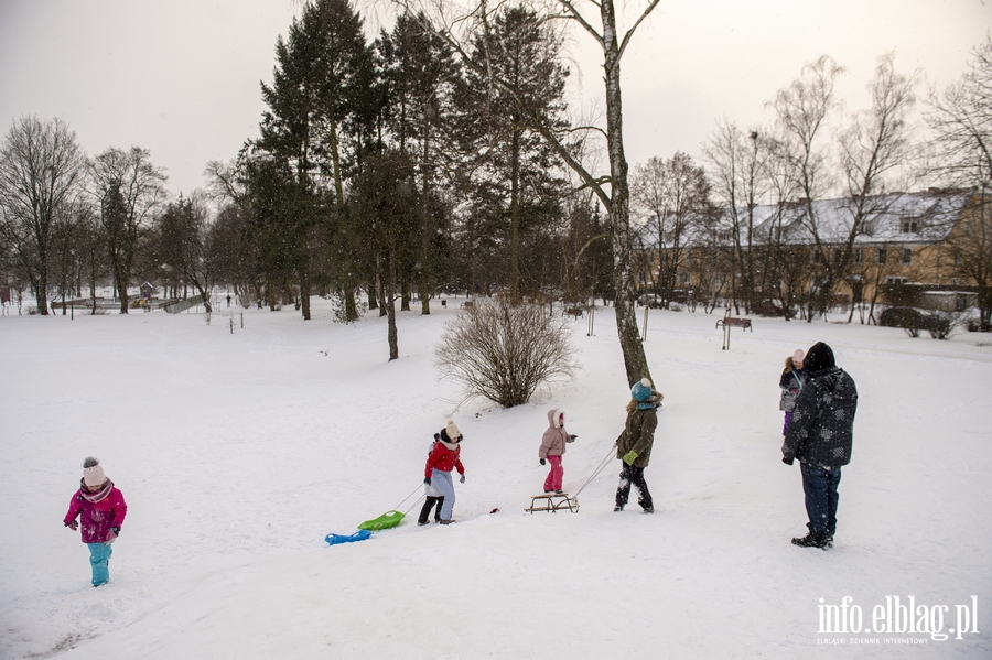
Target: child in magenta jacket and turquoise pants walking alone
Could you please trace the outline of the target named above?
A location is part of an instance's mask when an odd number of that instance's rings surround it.
[[[100,462],[89,457],[83,462],[83,478],[79,489],[69,501],[69,510],[63,523],[73,531],[83,527],[83,542],[89,547],[89,563],[93,566],[93,586],[103,586],[110,581],[108,563],[114,550],[110,544],[120,535],[128,505],[114,482],[104,475]],[[76,521],[76,518],[79,521]]]

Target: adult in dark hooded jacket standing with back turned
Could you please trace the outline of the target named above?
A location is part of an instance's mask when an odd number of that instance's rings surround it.
[[[808,380],[796,398],[781,459],[787,465],[799,459],[809,516],[809,533],[792,543],[827,550],[837,531],[841,466],[851,462],[858,388],[822,342],[810,347],[804,364]]]

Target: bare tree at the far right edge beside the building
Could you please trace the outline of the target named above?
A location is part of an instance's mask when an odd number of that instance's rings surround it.
[[[981,328],[992,329],[992,34],[974,50],[961,79],[930,94],[927,122],[935,132],[932,173],[948,185],[974,190],[970,213],[951,234],[955,270],[978,286]]]

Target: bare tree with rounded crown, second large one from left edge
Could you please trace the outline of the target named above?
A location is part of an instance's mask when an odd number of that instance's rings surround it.
[[[128,285],[139,241],[165,198],[165,173],[152,165],[150,155],[139,147],[108,149],[89,165],[121,314],[128,313]]]

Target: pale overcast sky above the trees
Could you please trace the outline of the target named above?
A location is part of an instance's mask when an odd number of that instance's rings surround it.
[[[643,7],[646,0],[627,2]],[[0,0],[0,131],[18,117],[61,117],[84,149],[139,145],[169,188],[204,186],[207,161],[228,160],[258,134],[259,83],[292,0]],[[633,14],[633,10],[630,11]],[[699,156],[726,117],[742,128],[828,54],[848,73],[848,109],[866,102],[877,58],[925,74],[920,91],[963,73],[992,30],[992,0],[661,0],[623,61],[627,159]],[[583,105],[602,82],[596,46],[569,43]],[[599,105],[602,108],[602,104]]]

